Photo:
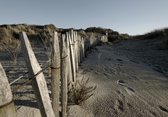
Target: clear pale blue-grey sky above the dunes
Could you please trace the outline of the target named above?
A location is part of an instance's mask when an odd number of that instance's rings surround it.
[[[13,23],[143,34],[168,27],[168,0],[0,0],[0,24]]]

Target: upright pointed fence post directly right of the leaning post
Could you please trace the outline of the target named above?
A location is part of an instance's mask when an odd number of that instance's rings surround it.
[[[51,98],[55,117],[59,117],[60,96],[60,47],[57,32],[54,32],[51,54]]]

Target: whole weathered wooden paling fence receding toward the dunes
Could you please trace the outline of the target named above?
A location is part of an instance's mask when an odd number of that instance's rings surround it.
[[[58,39],[57,32],[54,32],[51,52],[51,100],[48,93],[47,84],[29,39],[25,32],[20,33],[22,51],[25,62],[35,91],[35,96],[39,105],[42,117],[66,117],[67,100],[68,100],[68,83],[74,83],[77,79],[79,64],[84,60],[86,50],[95,46],[99,41],[105,40],[106,37],[97,37],[89,39],[82,37],[76,31],[70,30],[61,34]],[[1,75],[3,74],[3,75]],[[6,83],[5,89],[0,85],[0,115],[8,117],[11,113],[15,117],[15,109],[12,103],[12,94],[9,83],[5,76],[2,66],[0,65],[0,83]],[[6,94],[1,95],[1,92]],[[8,98],[6,97],[8,95]],[[1,101],[1,99],[5,101]],[[5,105],[5,106],[4,106]],[[6,105],[10,107],[6,107]],[[10,108],[10,109],[6,109]],[[61,114],[60,114],[61,113]],[[5,115],[6,114],[6,115]]]

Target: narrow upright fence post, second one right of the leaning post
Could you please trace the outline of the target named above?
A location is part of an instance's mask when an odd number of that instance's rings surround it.
[[[61,39],[61,110],[62,117],[67,116],[67,77],[68,77],[68,51],[67,51],[67,37],[62,34]]]

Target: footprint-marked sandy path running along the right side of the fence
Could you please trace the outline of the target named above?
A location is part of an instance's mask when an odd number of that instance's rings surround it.
[[[81,106],[70,108],[70,117],[168,116],[167,77],[137,57],[129,44],[97,46],[88,55],[78,75],[89,77],[97,89]]]

